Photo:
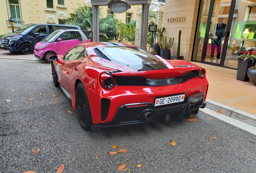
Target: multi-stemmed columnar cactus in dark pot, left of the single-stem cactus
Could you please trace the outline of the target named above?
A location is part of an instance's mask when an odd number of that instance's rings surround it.
[[[171,59],[171,47],[173,46],[174,37],[169,38],[167,42],[167,36],[159,36],[160,56],[165,59]]]

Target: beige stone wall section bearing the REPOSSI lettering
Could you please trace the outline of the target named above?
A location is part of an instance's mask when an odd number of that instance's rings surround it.
[[[174,37],[171,55],[176,55],[179,30],[181,34],[180,56],[184,60],[191,60],[196,31],[196,20],[200,0],[165,0],[163,26],[167,38]],[[170,22],[171,18],[186,17],[186,22]],[[169,18],[169,22],[168,22]]]

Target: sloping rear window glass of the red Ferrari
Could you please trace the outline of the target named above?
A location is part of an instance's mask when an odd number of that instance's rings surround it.
[[[94,49],[96,54],[136,71],[167,69],[167,66],[153,54],[137,47],[114,46]]]

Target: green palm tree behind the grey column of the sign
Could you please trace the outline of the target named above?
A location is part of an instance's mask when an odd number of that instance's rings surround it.
[[[107,37],[116,37],[117,28],[119,20],[113,18],[113,16],[107,16],[103,18],[101,8],[99,9],[99,34],[103,34]],[[70,13],[70,17],[67,18],[66,24],[78,25],[82,30],[87,30],[89,36],[93,35],[93,9],[92,7],[81,6]]]

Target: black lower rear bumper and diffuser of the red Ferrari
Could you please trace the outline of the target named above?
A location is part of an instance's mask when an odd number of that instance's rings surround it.
[[[127,125],[138,125],[142,123],[150,123],[155,127],[156,119],[164,118],[165,123],[169,121],[182,122],[184,115],[193,113],[197,114],[199,108],[204,108],[203,103],[204,94],[196,93],[190,95],[182,103],[176,105],[164,105],[155,107],[153,103],[133,103],[122,105],[118,108],[114,119],[111,123],[104,123],[100,125],[91,126],[92,131],[100,131],[101,128],[105,127],[120,127]],[[151,113],[152,117],[145,117],[147,113]],[[166,119],[167,118],[167,119]]]

